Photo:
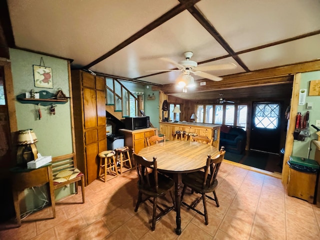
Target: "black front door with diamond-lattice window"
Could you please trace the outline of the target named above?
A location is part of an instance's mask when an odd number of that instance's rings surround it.
[[[253,102],[250,149],[277,154],[279,153],[279,102]]]

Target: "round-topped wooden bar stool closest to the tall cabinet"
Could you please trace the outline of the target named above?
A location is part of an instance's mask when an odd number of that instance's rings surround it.
[[[100,157],[99,178],[104,182],[106,182],[107,180],[110,180],[113,177],[118,176],[118,170],[116,168],[116,161],[115,161],[115,151],[113,150],[102,151],[98,154],[98,156]],[[109,173],[112,177],[106,179],[107,173]]]

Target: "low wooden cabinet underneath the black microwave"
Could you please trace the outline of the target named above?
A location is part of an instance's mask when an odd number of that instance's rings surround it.
[[[156,135],[157,128],[143,128],[139,130],[119,129],[124,135],[124,145],[130,149],[134,149],[135,153],[138,153],[143,147],[147,146],[146,137]]]

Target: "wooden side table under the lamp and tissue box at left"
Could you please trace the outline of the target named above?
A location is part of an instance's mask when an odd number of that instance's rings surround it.
[[[16,221],[18,225],[21,225],[20,218],[20,200],[21,195],[25,188],[32,186],[41,186],[45,183],[49,183],[50,200],[52,206],[53,218],[55,217],[55,200],[54,200],[54,188],[53,188],[53,176],[51,163],[45,164],[36,169],[27,169],[20,166],[12,167],[10,169],[12,195],[14,202],[14,209],[16,215]]]

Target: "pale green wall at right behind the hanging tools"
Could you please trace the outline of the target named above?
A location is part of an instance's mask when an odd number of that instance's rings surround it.
[[[305,98],[305,104],[304,105],[298,105],[297,111],[301,112],[304,116],[306,111],[309,111],[309,128],[310,128],[310,137],[305,137],[304,141],[298,141],[294,140],[293,142],[293,149],[292,149],[292,155],[293,156],[299,156],[299,157],[305,157],[308,156],[308,148],[310,146],[310,141],[312,139],[317,139],[317,135],[315,134],[316,130],[311,126],[311,124],[315,125],[315,120],[320,119],[320,96],[309,96],[309,85],[310,80],[319,80],[320,79],[320,71],[311,71],[311,72],[305,72],[301,73],[301,82],[300,82],[300,89],[306,89],[307,94]],[[312,102],[313,108],[312,109],[306,109],[306,102]],[[290,119],[295,122],[294,119]],[[318,127],[320,128],[320,127]],[[310,151],[310,159],[314,159],[314,151],[315,146],[314,144],[311,144],[311,151]]]

